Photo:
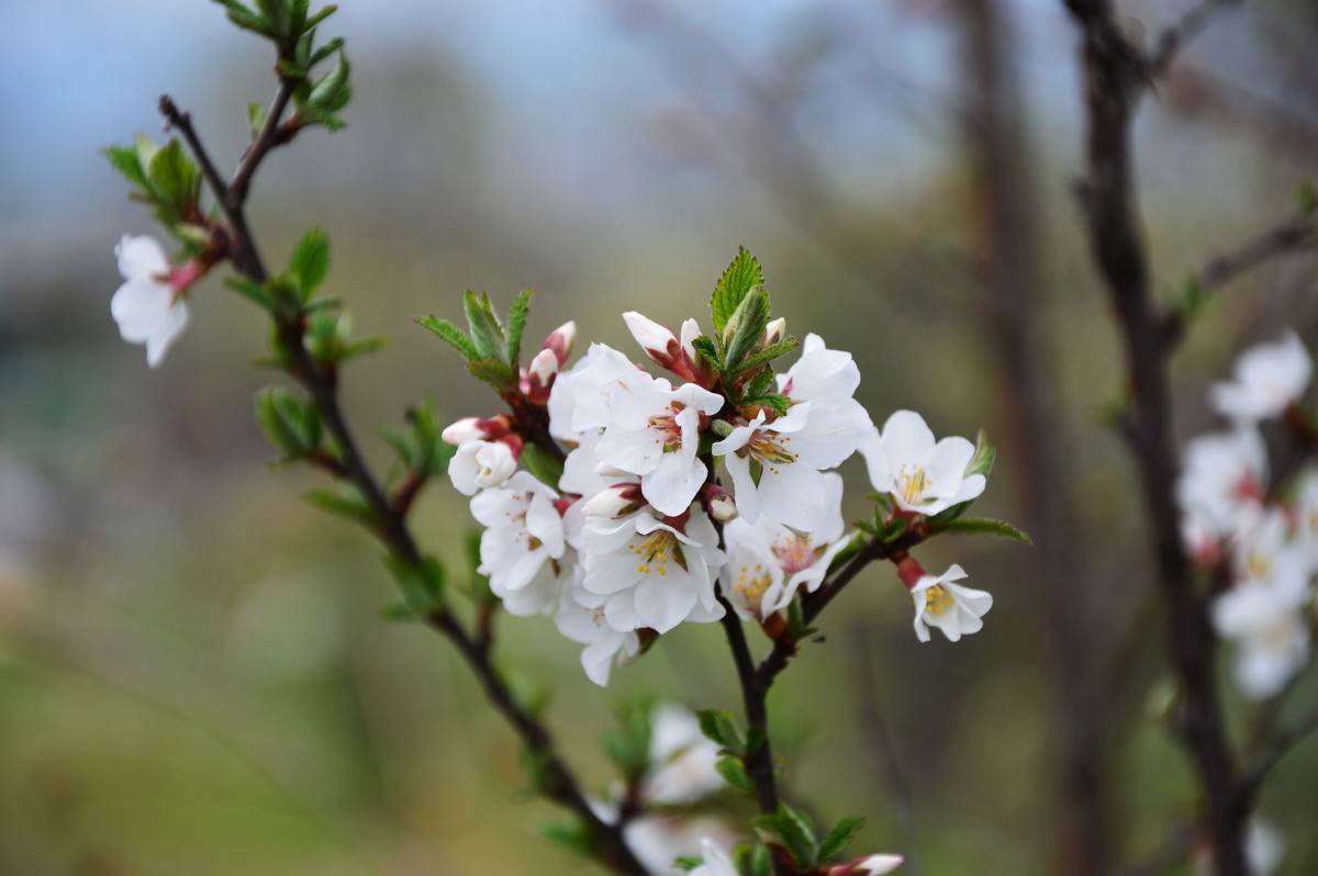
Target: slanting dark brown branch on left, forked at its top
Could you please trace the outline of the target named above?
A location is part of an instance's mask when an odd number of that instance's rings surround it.
[[[221,209],[229,219],[229,231],[235,245],[231,257],[235,269],[256,283],[264,283],[269,278],[269,274],[256,249],[244,216],[246,187],[256,174],[261,159],[269,154],[274,145],[273,134],[268,132],[274,130],[278,125],[278,115],[282,115],[286,108],[289,96],[291,96],[289,80],[281,79],[279,96],[275,99],[261,136],[253,142],[243,163],[239,166],[233,180],[227,186],[220,179],[215,170],[215,162],[192,128],[188,113],[181,112],[169,97],[161,99],[161,112],[171,125],[183,133],[185,140],[187,140],[196,161],[202,166],[203,174],[211,184],[212,192],[220,202]],[[310,350],[307,350],[303,339],[304,325],[301,316],[278,315],[274,319],[279,344],[289,357],[286,365],[289,374],[306,389],[320,411],[324,427],[333,436],[340,449],[341,477],[361,490],[366,498],[374,512],[377,524],[374,531],[385,543],[385,547],[413,569],[422,568],[424,559],[407,526],[405,511],[397,507],[385,494],[385,490],[370,472],[357,448],[357,441],[352,431],[348,428],[339,404],[336,373],[332,369],[323,368],[312,358]],[[646,868],[637,860],[631,850],[627,848],[621,829],[617,825],[605,822],[592,809],[590,801],[581,790],[580,782],[558,755],[554,740],[544,726],[517,703],[511,689],[492,663],[492,640],[488,634],[482,630],[477,638],[473,638],[447,611],[436,613],[427,620],[432,628],[442,632],[453,643],[459,653],[463,655],[476,673],[489,701],[513,726],[523,744],[542,760],[544,793],[555,802],[571,809],[590,829],[592,835],[598,842],[594,852],[596,856],[625,876],[647,876]]]

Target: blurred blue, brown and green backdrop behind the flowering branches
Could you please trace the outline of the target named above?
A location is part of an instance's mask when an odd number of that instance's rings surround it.
[[[1123,4],[1149,41],[1188,0]],[[891,569],[825,615],[771,698],[784,782],[855,850],[934,876],[1119,872],[1193,802],[1162,709],[1161,618],[1132,466],[1104,406],[1120,349],[1081,232],[1077,32],[1053,0],[345,0],[356,96],[256,179],[272,261],[311,225],[330,294],[393,339],[345,406],[377,427],[430,395],[494,399],[411,324],[538,290],[529,336],[630,348],[619,314],[705,315],[738,245],[793,333],[851,350],[876,422],[998,443],[981,503],[1037,547],[944,539],[994,593],[983,632],[921,645]],[[1223,14],[1145,101],[1139,188],[1161,292],[1293,209],[1318,173],[1318,13]],[[377,610],[366,536],[268,470],[252,395],[262,316],[219,278],[159,370],[120,341],[113,246],[149,216],[98,150],[162,138],[169,92],[231,166],[272,95],[265,43],[203,0],[0,4],[0,873],[358,876],[597,872],[539,838],[511,732],[447,643]],[[1318,328],[1313,257],[1232,285],[1174,365],[1184,437],[1247,342]],[[863,469],[844,469],[863,512]],[[427,548],[469,516],[436,483]],[[505,665],[600,792],[610,702],[734,707],[721,631],[683,628],[601,693],[546,619]],[[1318,698],[1313,673],[1293,702]],[[1243,726],[1242,703],[1230,703]],[[1318,872],[1318,744],[1261,811],[1277,873]],[[1075,801],[1082,801],[1077,804]],[[1087,802],[1085,802],[1087,801]],[[745,810],[734,810],[746,818]],[[745,822],[742,822],[745,823]]]

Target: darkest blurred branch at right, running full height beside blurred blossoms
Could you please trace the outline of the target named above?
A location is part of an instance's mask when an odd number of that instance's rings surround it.
[[[1083,34],[1087,146],[1077,194],[1094,262],[1124,337],[1132,435],[1140,469],[1165,631],[1181,714],[1177,728],[1198,773],[1217,872],[1246,876],[1244,815],[1218,701],[1217,640],[1180,535],[1178,472],[1168,390],[1169,345],[1151,300],[1148,258],[1135,205],[1131,126],[1148,86],[1144,53],[1118,28],[1110,0],[1066,0]]]

